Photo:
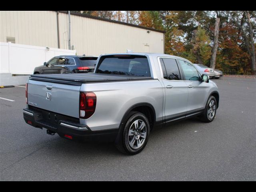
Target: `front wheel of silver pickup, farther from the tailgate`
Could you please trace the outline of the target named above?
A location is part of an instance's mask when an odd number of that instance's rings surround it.
[[[199,116],[200,120],[203,122],[212,122],[215,118],[217,110],[217,101],[214,96],[210,96],[206,102],[203,113]]]

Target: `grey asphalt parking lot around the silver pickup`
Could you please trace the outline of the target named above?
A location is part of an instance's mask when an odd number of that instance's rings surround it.
[[[0,180],[256,181],[256,79],[213,81],[220,90],[213,122],[193,118],[155,129],[135,156],[29,126],[25,88],[2,88],[9,100],[0,99]]]

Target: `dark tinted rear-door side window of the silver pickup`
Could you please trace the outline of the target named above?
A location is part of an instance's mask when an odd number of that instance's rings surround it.
[[[180,71],[178,68],[178,64],[175,59],[171,58],[162,58],[164,61],[164,66],[166,68],[166,74],[168,80],[181,80]]]

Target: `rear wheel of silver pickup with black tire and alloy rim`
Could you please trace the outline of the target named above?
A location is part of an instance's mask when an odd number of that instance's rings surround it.
[[[120,152],[135,155],[148,142],[150,124],[148,118],[140,112],[130,112],[127,117],[124,126],[120,127],[115,144]]]

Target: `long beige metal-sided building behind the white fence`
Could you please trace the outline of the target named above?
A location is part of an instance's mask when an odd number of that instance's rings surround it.
[[[71,12],[71,49],[78,55],[164,53],[164,31]],[[67,11],[0,11],[0,42],[68,49]]]

